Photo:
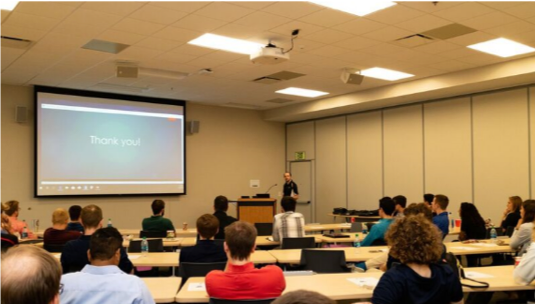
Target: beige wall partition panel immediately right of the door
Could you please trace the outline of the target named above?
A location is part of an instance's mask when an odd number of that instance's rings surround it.
[[[346,117],[316,121],[316,221],[332,222],[335,207],[347,206]]]

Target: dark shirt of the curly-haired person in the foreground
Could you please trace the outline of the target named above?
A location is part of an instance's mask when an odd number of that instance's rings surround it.
[[[424,278],[409,266],[389,269],[373,291],[373,304],[450,304],[463,299],[461,282],[446,264],[431,264],[431,277]]]

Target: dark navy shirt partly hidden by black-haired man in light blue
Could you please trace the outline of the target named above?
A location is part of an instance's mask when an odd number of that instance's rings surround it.
[[[72,269],[81,270],[85,265],[89,264],[87,251],[89,250],[90,240],[90,235],[82,235],[79,239],[65,244],[63,252],[61,253],[61,267],[63,267],[63,273],[72,272]],[[124,247],[121,247],[119,268],[126,273],[130,273],[134,268],[132,262],[128,259]]]

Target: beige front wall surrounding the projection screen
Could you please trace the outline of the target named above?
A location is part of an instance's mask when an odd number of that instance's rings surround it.
[[[33,90],[0,85],[0,201],[19,200],[20,218],[40,219],[43,228],[50,226],[55,208],[72,204],[98,204],[114,226],[139,228],[143,217],[151,213],[154,197],[33,197],[33,120],[26,124],[15,122],[15,107],[20,105],[33,108]],[[30,112],[33,119],[33,109]],[[186,137],[188,194],[162,197],[167,202],[166,216],[177,226],[182,222],[194,225],[199,215],[211,213],[217,195],[236,199],[257,193],[257,189],[249,187],[251,179],[260,180],[262,191],[280,184],[285,168],[283,123],[265,122],[258,111],[191,103],[187,104],[186,114],[187,120],[201,122],[200,132]]]

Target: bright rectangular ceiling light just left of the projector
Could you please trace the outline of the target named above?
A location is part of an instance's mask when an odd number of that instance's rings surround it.
[[[188,44],[207,47],[210,49],[222,50],[239,54],[251,54],[258,51],[264,45],[256,42],[240,40],[214,34],[204,34],[197,37]]]

